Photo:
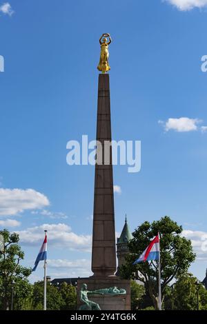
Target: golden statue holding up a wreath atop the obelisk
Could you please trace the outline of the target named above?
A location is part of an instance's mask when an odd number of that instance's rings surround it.
[[[106,37],[108,37],[109,41]],[[101,45],[101,55],[100,55],[100,61],[99,61],[99,65],[97,66],[97,69],[99,71],[102,71],[102,73],[106,73],[107,71],[110,70],[110,66],[108,64],[108,57],[109,57],[108,45],[111,43],[110,34],[103,34],[99,39],[99,43]]]

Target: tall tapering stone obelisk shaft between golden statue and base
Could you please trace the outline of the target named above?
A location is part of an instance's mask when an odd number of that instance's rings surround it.
[[[110,163],[104,165],[104,141],[111,141],[110,85],[108,74],[99,74],[97,141],[102,144],[103,150],[102,164],[97,163],[95,167],[92,272],[94,276],[106,277],[113,276],[116,271],[115,211],[111,148]]]

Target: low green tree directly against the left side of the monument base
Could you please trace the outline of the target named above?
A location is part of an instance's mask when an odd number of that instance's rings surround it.
[[[76,288],[68,283],[61,283],[58,286],[59,292],[65,304],[61,310],[76,310],[77,307],[77,291]]]

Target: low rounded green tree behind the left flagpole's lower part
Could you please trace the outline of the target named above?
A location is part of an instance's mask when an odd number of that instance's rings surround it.
[[[32,309],[43,310],[43,281],[34,283],[32,293]],[[61,296],[58,287],[47,283],[47,310],[61,310],[65,306],[65,301]]]

